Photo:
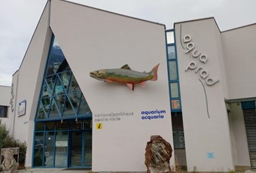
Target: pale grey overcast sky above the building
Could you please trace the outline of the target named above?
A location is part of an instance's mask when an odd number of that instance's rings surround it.
[[[70,0],[166,25],[215,17],[221,31],[256,23],[255,0]],[[0,0],[0,85],[11,86],[47,0]],[[239,43],[238,43],[239,44]]]

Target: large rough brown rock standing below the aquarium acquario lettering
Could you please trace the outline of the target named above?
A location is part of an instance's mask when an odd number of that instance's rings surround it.
[[[169,159],[172,157],[172,146],[160,135],[152,135],[145,153],[147,173],[171,172]]]

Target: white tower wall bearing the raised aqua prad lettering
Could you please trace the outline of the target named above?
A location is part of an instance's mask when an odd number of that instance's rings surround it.
[[[192,56],[194,50],[185,53],[188,42],[184,43],[184,35],[190,35],[192,38],[190,42],[194,44],[197,53],[200,51],[201,55],[205,54],[208,57],[206,62],[201,62],[199,57],[194,58]],[[187,169],[188,171],[193,171],[194,168],[198,171],[229,171],[234,167],[224,103],[227,89],[221,65],[223,57],[218,26],[213,18],[175,23],[175,36]],[[190,62],[195,62],[197,68],[192,65],[193,67],[190,68],[194,69],[188,68],[185,71]],[[203,70],[205,72],[200,74]],[[200,76],[206,74],[208,76],[205,79]],[[209,86],[206,83],[209,78],[219,81]],[[210,80],[208,82],[211,83]]]

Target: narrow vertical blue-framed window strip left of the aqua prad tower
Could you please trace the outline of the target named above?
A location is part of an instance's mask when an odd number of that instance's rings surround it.
[[[170,103],[172,112],[181,112],[181,96],[178,80],[178,60],[175,47],[175,30],[166,30],[166,58],[168,64]]]

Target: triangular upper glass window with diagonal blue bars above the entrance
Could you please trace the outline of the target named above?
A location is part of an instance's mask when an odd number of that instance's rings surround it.
[[[55,38],[46,68],[36,118],[54,120],[90,113],[78,82]]]

